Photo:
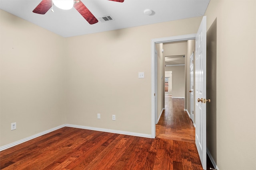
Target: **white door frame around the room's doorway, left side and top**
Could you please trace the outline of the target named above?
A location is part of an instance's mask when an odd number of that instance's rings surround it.
[[[156,137],[156,104],[157,104],[157,59],[155,58],[155,44],[167,43],[172,41],[184,41],[189,39],[195,39],[196,34],[178,35],[173,37],[164,37],[151,39],[151,137]],[[185,98],[186,99],[186,98]]]

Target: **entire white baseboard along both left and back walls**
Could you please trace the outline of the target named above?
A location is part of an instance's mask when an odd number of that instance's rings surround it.
[[[26,141],[29,141],[31,139],[34,139],[36,137],[40,137],[42,135],[45,135],[47,133],[50,133],[52,131],[55,131],[57,129],[60,129],[62,127],[75,127],[75,128],[79,128],[79,129],[88,129],[88,130],[93,130],[93,131],[101,131],[101,132],[109,132],[109,133],[117,133],[117,134],[123,134],[123,135],[131,135],[131,136],[137,136],[137,137],[146,137],[146,138],[152,138],[151,135],[148,135],[148,134],[142,134],[142,133],[133,133],[133,132],[126,132],[126,131],[116,131],[116,130],[111,130],[111,129],[102,129],[102,128],[96,128],[96,127],[88,127],[88,126],[80,126],[80,125],[70,125],[70,124],[64,124],[64,125],[60,125],[58,127],[54,127],[52,129],[49,129],[47,131],[43,131],[41,133],[38,133],[36,135],[32,135],[30,137],[27,137],[25,139],[22,139],[22,140],[19,140],[19,141],[16,141],[14,143],[10,143],[8,145],[4,145],[2,147],[0,147],[0,151],[2,150],[5,150],[5,149],[8,149],[8,148],[11,148],[11,147],[14,147],[16,145],[19,145],[21,143],[24,143]]]

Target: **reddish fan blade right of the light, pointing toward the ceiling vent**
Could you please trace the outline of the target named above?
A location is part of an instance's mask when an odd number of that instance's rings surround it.
[[[88,8],[81,2],[76,2],[74,4],[74,8],[88,21],[90,24],[97,23],[98,20],[95,18],[95,16],[88,10]]]

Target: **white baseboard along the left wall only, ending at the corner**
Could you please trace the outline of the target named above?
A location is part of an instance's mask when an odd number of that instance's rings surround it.
[[[52,128],[52,129],[49,129],[49,130],[47,130],[47,131],[43,131],[43,132],[41,132],[41,133],[38,133],[38,134],[36,134],[36,135],[32,135],[32,136],[30,136],[30,137],[21,139],[21,140],[19,140],[19,141],[14,142],[14,143],[10,143],[10,144],[8,144],[8,145],[4,145],[4,146],[0,147],[0,151],[5,150],[5,149],[8,149],[8,148],[10,148],[10,147],[14,147],[14,146],[19,145],[19,144],[21,144],[21,143],[24,143],[24,142],[26,142],[26,141],[30,141],[31,139],[40,137],[40,136],[45,135],[45,134],[47,134],[47,133],[50,133],[50,132],[52,132],[52,131],[56,131],[57,129],[60,129],[60,128],[62,128],[62,127],[65,127],[65,125],[60,125],[60,126],[57,126],[57,127]]]

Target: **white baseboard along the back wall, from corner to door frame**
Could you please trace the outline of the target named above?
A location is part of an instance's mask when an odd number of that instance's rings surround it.
[[[65,126],[66,127],[75,127],[75,128],[79,128],[79,129],[88,129],[88,130],[92,130],[92,131],[101,131],[101,132],[108,132],[108,133],[117,133],[117,134],[122,134],[122,135],[131,135],[131,136],[137,136],[137,137],[151,138],[151,135],[142,134],[142,133],[133,133],[133,132],[126,132],[126,131],[117,131],[117,130],[112,130],[112,129],[102,129],[102,128],[97,128],[97,127],[70,125],[70,124],[65,124]]]

